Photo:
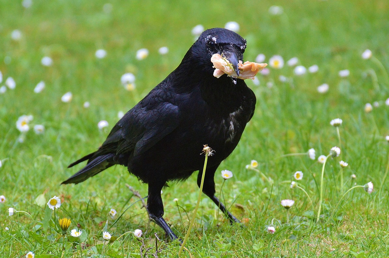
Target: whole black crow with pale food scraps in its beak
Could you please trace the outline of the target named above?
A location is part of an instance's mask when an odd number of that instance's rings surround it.
[[[180,65],[116,123],[97,151],[69,165],[88,160],[62,184],[78,184],[113,165],[124,165],[149,185],[147,212],[174,240],[177,236],[162,217],[161,189],[197,170],[200,186],[204,165],[200,153],[208,144],[215,153],[208,160],[203,192],[231,223],[239,222],[216,198],[214,174],[237,146],[254,114],[256,97],[242,79],[214,77],[210,59],[212,54],[223,54],[238,74],[245,48],[246,40],[235,32],[204,31]]]

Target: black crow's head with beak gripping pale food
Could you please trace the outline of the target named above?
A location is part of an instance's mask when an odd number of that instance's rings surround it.
[[[233,65],[239,75],[238,60],[243,60],[246,48],[246,40],[238,33],[224,28],[212,28],[205,30],[192,46],[193,58],[200,68],[207,74],[213,75],[215,68],[212,66],[211,56],[221,54]],[[236,84],[237,79],[231,77]]]

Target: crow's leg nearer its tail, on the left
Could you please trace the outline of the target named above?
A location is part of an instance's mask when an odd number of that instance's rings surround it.
[[[161,184],[149,183],[149,197],[147,198],[147,212],[149,212],[150,218],[152,218],[170,237],[170,240],[178,239],[178,237],[170,229],[163,216],[163,202],[161,198],[161,190],[165,182]]]

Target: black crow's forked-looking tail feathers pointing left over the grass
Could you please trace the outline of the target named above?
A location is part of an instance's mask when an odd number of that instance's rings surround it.
[[[94,153],[91,153],[89,155],[86,155],[85,157],[75,161],[74,163],[70,164],[69,167],[73,167],[74,165],[88,160],[93,156]],[[89,160],[88,164],[86,164],[85,167],[83,167],[79,172],[75,173],[73,176],[69,177],[67,180],[63,181],[61,184],[78,184],[82,181],[85,181],[89,177],[93,177],[96,174],[102,172],[103,170],[115,165],[113,160],[114,154],[104,154],[101,156],[97,156],[93,160]]]

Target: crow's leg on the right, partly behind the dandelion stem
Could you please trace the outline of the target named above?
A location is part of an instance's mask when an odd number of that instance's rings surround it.
[[[205,170],[205,176],[204,176],[204,186],[203,186],[203,193],[205,193],[211,200],[219,207],[219,209],[226,215],[226,217],[230,220],[230,223],[240,223],[239,219],[235,218],[234,215],[231,214],[226,209],[226,206],[215,196],[216,190],[215,190],[215,181],[214,181],[214,175],[216,171],[216,167],[207,168]],[[201,177],[202,177],[202,171],[198,173],[197,176],[197,184],[200,187],[201,184]]]

